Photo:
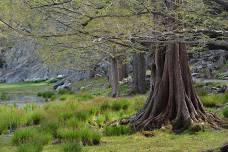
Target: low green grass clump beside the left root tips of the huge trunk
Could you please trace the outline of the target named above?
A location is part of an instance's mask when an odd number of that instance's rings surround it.
[[[132,130],[130,127],[124,125],[107,126],[105,127],[104,134],[106,136],[130,135],[132,134]]]

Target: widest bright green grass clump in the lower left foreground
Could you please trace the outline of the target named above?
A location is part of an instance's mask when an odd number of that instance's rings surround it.
[[[12,138],[12,143],[14,145],[27,143],[46,145],[51,140],[52,136],[48,133],[40,132],[36,128],[23,128],[15,131]]]

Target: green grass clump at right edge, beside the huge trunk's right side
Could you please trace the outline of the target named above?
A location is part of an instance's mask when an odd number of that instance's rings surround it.
[[[221,106],[228,102],[225,94],[209,94],[201,96],[200,99],[206,107]]]

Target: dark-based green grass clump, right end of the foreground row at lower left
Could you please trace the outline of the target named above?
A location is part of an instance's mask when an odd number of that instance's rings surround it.
[[[85,128],[80,130],[81,141],[83,145],[98,145],[100,144],[101,135],[91,129]]]

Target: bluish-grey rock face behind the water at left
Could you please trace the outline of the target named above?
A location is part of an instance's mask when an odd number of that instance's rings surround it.
[[[13,47],[4,53],[5,63],[0,69],[0,81],[15,83],[44,80],[59,75],[72,76],[73,80],[89,77],[89,72],[67,69],[57,65],[45,65],[37,54],[36,50],[39,47],[33,39],[15,41]]]

